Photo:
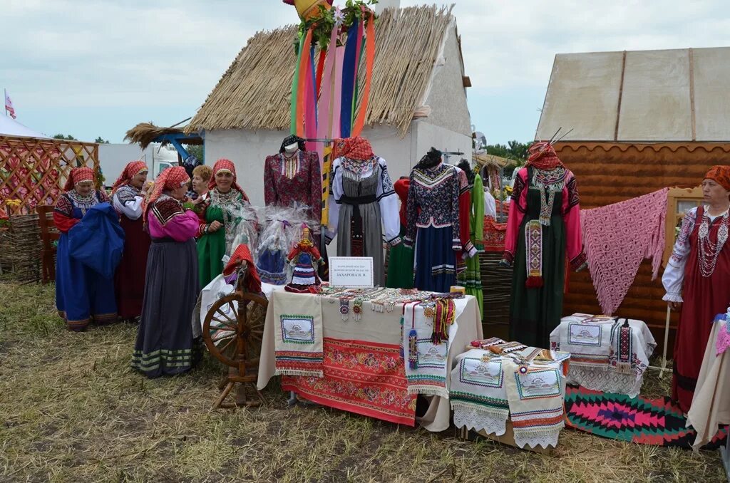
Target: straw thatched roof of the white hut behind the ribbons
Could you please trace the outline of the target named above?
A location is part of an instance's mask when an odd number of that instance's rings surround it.
[[[366,125],[390,124],[401,135],[429,90],[452,7],[386,9],[375,24],[375,61]],[[287,129],[296,63],[296,26],[249,39],[186,131]]]

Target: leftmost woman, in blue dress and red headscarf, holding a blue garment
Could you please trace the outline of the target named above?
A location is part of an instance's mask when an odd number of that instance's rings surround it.
[[[69,231],[92,206],[108,203],[102,190],[94,189],[93,169],[74,168],[56,201],[53,222],[61,236],[55,261],[55,306],[70,331],[83,331],[93,319],[98,324],[117,318],[114,281],[104,279],[69,255]]]

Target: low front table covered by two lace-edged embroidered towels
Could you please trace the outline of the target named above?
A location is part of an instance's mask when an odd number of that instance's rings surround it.
[[[454,425],[520,448],[556,447],[565,425],[570,355],[523,345],[505,353],[515,343],[497,344],[505,347],[499,353],[472,348],[457,356],[450,387]]]

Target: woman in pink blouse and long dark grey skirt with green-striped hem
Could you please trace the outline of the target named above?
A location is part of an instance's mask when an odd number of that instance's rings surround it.
[[[131,366],[150,378],[188,371],[199,356],[191,325],[200,292],[199,219],[182,204],[189,181],[183,166],[162,171],[142,213],[152,244]]]

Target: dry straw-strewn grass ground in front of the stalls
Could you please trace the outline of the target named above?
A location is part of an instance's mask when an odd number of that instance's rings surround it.
[[[724,481],[715,451],[564,430],[554,455],[536,455],[290,409],[277,389],[260,409],[212,411],[218,364],[207,358],[192,374],[149,381],[128,368],[135,333],[123,324],[69,333],[53,286],[0,282],[0,481]],[[666,391],[658,379],[646,389]]]

